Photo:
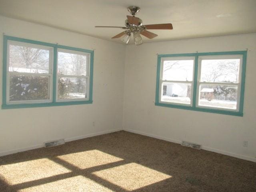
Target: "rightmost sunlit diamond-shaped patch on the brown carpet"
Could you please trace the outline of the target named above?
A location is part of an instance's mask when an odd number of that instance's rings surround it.
[[[172,178],[170,175],[136,163],[116,166],[93,174],[128,191]]]

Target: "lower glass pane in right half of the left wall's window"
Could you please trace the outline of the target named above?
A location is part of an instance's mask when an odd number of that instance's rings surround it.
[[[86,98],[86,85],[86,78],[58,78],[58,99]]]

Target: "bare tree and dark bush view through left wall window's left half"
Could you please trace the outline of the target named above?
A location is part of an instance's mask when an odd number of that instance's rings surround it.
[[[49,50],[10,44],[9,53],[9,100],[49,99]]]

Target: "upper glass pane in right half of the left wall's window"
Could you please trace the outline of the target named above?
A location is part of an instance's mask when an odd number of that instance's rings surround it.
[[[86,76],[86,56],[58,52],[58,74]]]

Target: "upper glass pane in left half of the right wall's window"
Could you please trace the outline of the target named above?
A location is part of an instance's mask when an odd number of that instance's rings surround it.
[[[192,81],[194,60],[164,61],[163,80]]]

